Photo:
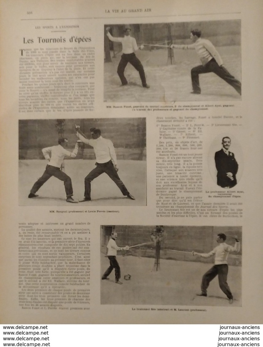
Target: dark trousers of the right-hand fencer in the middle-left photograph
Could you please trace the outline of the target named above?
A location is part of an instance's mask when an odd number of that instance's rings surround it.
[[[91,191],[91,181],[94,180],[94,178],[100,176],[101,174],[107,174],[115,184],[119,187],[121,190],[121,193],[123,195],[129,194],[127,188],[125,185],[122,183],[119,175],[117,174],[117,171],[114,168],[113,162],[110,160],[106,163],[96,163],[96,168],[91,170],[88,176],[85,177],[84,183],[85,183],[85,192],[84,196],[86,198],[90,199],[90,191]]]

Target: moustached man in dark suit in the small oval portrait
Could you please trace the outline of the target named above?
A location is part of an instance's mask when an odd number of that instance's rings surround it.
[[[232,188],[237,184],[238,163],[234,153],[229,151],[231,139],[228,136],[222,138],[222,145],[223,148],[215,152],[217,184],[222,188]]]

